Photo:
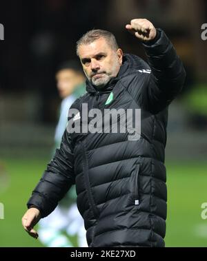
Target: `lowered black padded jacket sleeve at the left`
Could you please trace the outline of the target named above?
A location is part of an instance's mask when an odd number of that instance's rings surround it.
[[[41,218],[48,216],[57,207],[59,200],[75,184],[72,147],[70,134],[66,130],[60,148],[56,149],[55,156],[28,200],[28,208],[39,209]]]

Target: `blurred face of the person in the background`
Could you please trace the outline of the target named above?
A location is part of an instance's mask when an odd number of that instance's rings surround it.
[[[83,83],[84,77],[75,70],[63,69],[57,72],[56,80],[59,96],[61,96],[61,98],[66,98],[74,92],[77,85]]]

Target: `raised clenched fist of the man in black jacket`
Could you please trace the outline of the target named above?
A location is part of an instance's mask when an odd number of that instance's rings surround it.
[[[147,19],[132,19],[126,29],[141,41],[153,40],[157,34],[155,26]]]

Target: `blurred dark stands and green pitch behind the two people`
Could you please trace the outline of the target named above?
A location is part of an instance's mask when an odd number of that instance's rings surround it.
[[[125,24],[146,18],[163,28],[186,67],[184,90],[169,110],[167,247],[206,247],[207,23],[204,0],[1,1],[0,247],[40,247],[21,227],[26,201],[51,157],[60,99],[55,71],[74,58],[92,28],[110,30],[124,52],[146,59]],[[207,216],[206,216],[207,218]]]

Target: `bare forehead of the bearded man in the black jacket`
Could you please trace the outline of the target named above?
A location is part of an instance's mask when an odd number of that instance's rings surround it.
[[[83,58],[92,58],[93,56],[96,56],[99,53],[108,53],[112,49],[110,48],[110,45],[108,45],[106,39],[103,37],[93,41],[89,44],[83,44],[79,46],[79,57],[81,59]]]

